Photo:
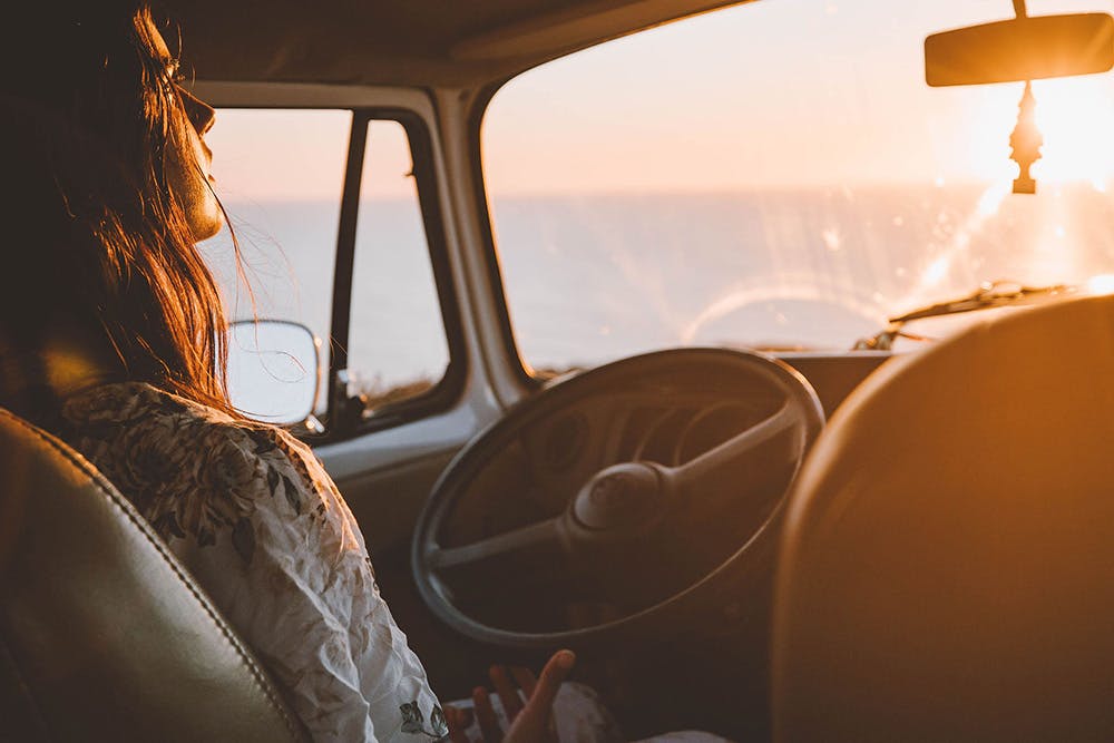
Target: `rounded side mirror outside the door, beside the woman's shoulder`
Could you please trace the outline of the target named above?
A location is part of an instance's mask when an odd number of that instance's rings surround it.
[[[237,321],[228,327],[228,397],[252,420],[303,424],[313,417],[321,389],[321,341],[285,320]]]

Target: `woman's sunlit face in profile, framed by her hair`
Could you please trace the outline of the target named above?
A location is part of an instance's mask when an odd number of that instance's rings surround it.
[[[148,32],[154,52],[166,59],[168,67],[175,65],[158,29],[148,23]],[[211,106],[177,84],[175,87],[178,105],[172,114],[163,166],[167,186],[182,206],[194,239],[202,241],[221,232],[224,224],[221,204],[211,186],[213,150],[204,140],[216,116]]]

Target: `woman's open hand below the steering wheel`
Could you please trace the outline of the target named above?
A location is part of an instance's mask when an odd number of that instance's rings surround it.
[[[576,656],[571,651],[558,651],[546,663],[538,678],[528,668],[492,666],[491,683],[510,721],[510,730],[506,734],[500,730],[488,691],[478,686],[472,692],[472,702],[476,704],[476,718],[483,733],[483,742],[556,743],[554,698],[575,662]],[[518,693],[519,688],[526,697],[525,704]],[[468,726],[467,714],[463,711],[447,707],[446,722],[449,724],[449,739],[452,743],[469,743],[465,733],[465,727]]]

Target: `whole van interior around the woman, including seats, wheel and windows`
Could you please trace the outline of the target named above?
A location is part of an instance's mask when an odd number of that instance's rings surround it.
[[[628,740],[1114,736],[1114,6],[891,6],[165,3],[234,401],[442,702],[570,647]],[[305,740],[110,482],[0,462],[0,741]]]

